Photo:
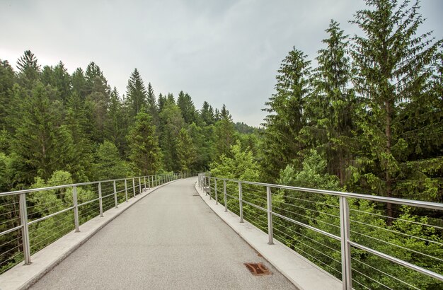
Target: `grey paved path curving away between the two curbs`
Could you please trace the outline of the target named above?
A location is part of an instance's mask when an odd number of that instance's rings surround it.
[[[144,197],[31,289],[295,289],[219,219],[196,178]],[[244,262],[263,262],[253,276]]]

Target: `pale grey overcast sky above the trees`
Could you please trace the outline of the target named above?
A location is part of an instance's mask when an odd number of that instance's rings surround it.
[[[443,38],[443,1],[422,0],[422,31]],[[257,126],[282,59],[295,46],[316,57],[331,18],[347,34],[362,0],[0,0],[0,59],[31,50],[71,74],[93,61],[126,93],[137,67],[156,95],[188,92],[200,109],[225,103],[234,122]]]

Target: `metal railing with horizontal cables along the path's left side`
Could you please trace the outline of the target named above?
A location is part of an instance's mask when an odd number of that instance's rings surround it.
[[[143,190],[195,176],[166,173],[0,193],[0,274]]]

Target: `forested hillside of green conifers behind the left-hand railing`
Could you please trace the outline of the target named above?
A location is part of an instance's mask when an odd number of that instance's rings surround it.
[[[255,146],[246,136],[254,130],[236,130],[225,106],[156,95],[137,69],[122,95],[94,62],[69,74],[63,62],[41,67],[29,50],[15,69],[0,62],[0,129],[0,192],[57,170],[74,182],[202,171],[237,141]]]

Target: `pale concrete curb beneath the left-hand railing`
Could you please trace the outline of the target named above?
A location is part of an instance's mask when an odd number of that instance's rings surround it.
[[[47,247],[31,256],[30,265],[24,265],[23,262],[21,262],[1,274],[0,290],[28,289],[117,216],[120,216],[120,214],[152,192],[176,181],[177,180],[173,180],[163,183],[163,185],[151,187],[151,190],[143,190],[141,194],[128,199],[128,202],[118,204],[117,209],[108,209],[108,211],[103,212],[103,217],[100,218],[100,216],[96,216],[85,224],[82,224],[79,233],[71,231],[54,243],[47,245]]]

